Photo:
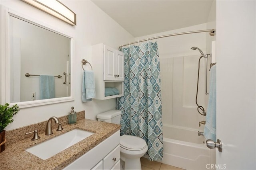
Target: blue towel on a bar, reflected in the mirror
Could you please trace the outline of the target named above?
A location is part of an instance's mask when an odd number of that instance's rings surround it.
[[[40,99],[55,98],[55,82],[52,75],[40,75]]]

